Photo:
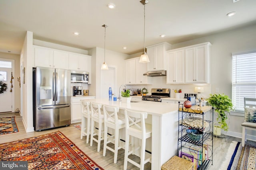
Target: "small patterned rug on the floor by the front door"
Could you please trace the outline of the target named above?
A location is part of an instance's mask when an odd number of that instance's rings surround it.
[[[19,132],[16,125],[15,116],[0,118],[0,135]]]

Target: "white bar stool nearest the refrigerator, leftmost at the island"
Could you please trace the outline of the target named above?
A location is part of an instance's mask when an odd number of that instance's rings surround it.
[[[81,123],[81,139],[83,136],[86,136],[86,143],[89,143],[90,136],[90,121],[91,121],[91,112],[90,112],[90,102],[86,100],[80,100],[82,107],[82,123]]]

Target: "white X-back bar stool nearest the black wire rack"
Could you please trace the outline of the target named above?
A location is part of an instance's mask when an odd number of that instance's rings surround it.
[[[144,164],[151,160],[151,157],[145,160],[146,139],[152,136],[152,125],[145,123],[148,117],[146,112],[124,110],[125,115],[125,151],[124,151],[124,170],[127,169],[127,162],[130,162],[140,168],[144,169]],[[129,151],[129,137],[131,136],[132,149]],[[140,147],[134,149],[133,137],[141,139]],[[140,150],[140,164],[128,158],[134,151]]]

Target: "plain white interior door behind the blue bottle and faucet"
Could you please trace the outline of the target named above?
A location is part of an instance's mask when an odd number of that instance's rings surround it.
[[[112,93],[118,95],[116,91],[116,68],[108,67],[108,70],[101,70],[100,98],[108,98],[108,89],[112,88]],[[113,98],[112,98],[113,100]]]

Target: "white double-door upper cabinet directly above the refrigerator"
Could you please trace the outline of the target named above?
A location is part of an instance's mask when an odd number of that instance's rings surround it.
[[[35,66],[68,69],[68,53],[34,46]]]

